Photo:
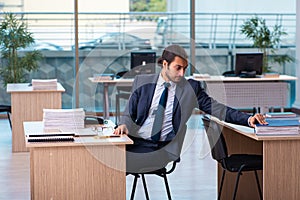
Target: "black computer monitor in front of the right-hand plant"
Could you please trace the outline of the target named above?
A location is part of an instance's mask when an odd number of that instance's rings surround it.
[[[255,77],[262,74],[263,53],[237,53],[235,74],[237,76]]]

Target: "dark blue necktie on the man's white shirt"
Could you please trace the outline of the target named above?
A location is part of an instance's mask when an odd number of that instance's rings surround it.
[[[170,85],[171,85],[170,83],[167,82],[164,83],[165,89],[159,99],[159,104],[154,118],[153,128],[151,132],[151,139],[156,142],[159,141],[160,139],[161,128],[163,125],[165,108],[168,99],[168,88],[170,87]]]

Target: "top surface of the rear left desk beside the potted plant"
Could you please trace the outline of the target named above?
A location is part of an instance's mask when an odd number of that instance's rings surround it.
[[[7,84],[6,91],[8,93],[12,92],[64,92],[64,87],[57,83],[57,89],[56,90],[33,90],[32,86],[29,86],[29,83],[13,83],[13,84]]]

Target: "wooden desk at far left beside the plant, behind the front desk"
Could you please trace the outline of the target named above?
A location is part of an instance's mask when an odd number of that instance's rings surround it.
[[[61,108],[61,93],[64,91],[60,83],[57,90],[33,90],[28,83],[7,85],[7,92],[11,93],[12,152],[28,151],[23,121],[41,121],[43,108]]]

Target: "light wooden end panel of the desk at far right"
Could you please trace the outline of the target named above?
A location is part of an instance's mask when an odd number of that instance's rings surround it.
[[[264,141],[264,199],[299,199],[299,151],[299,139]]]

